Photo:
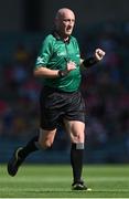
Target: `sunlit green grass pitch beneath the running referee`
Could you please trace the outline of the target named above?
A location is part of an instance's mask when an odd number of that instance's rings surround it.
[[[72,191],[69,165],[23,165],[15,177],[0,166],[0,198],[129,198],[129,165],[85,165],[92,191]]]

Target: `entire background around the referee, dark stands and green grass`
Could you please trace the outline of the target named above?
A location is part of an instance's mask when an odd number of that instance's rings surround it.
[[[129,198],[129,0],[50,2],[0,1],[0,198]],[[30,156],[15,177],[7,174],[15,147],[39,127],[41,84],[32,71],[63,7],[76,13],[74,35],[83,54],[97,46],[106,51],[104,62],[84,73],[82,85],[88,117],[83,176],[92,191],[71,190],[69,145],[61,132],[53,150]]]

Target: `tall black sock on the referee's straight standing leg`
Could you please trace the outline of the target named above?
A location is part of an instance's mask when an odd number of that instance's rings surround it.
[[[77,144],[72,144],[71,148],[71,164],[73,168],[74,182],[80,181],[83,170],[83,154],[84,148],[77,148]]]

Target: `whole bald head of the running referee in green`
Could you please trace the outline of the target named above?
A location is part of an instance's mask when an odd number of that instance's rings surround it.
[[[55,15],[55,28],[62,38],[66,39],[73,32],[75,14],[71,9],[62,8]]]

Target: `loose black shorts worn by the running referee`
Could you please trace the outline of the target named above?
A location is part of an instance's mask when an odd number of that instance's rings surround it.
[[[44,87],[40,96],[40,126],[52,130],[66,118],[85,123],[85,103],[80,92],[65,93],[51,87]]]

